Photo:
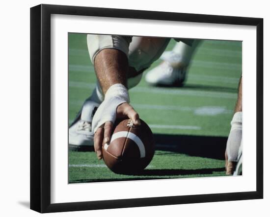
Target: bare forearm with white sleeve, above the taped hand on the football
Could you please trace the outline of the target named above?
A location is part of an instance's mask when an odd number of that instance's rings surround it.
[[[128,53],[130,36],[87,35],[89,56],[105,95],[113,84],[127,86]]]

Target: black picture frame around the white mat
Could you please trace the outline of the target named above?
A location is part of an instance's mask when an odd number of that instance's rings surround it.
[[[256,191],[51,203],[51,15],[256,26]],[[30,209],[40,213],[263,198],[263,19],[41,4],[30,9]]]

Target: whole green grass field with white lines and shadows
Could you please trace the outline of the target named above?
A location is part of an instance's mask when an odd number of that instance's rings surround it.
[[[174,45],[171,40],[166,50]],[[151,69],[159,63],[153,63]],[[141,174],[119,175],[94,152],[69,151],[69,182],[225,175],[224,151],[241,72],[241,42],[204,40],[192,59],[184,87],[149,87],[143,77],[130,90],[130,97],[154,133],[156,152],[150,165]],[[70,123],[95,82],[86,35],[69,34]]]

